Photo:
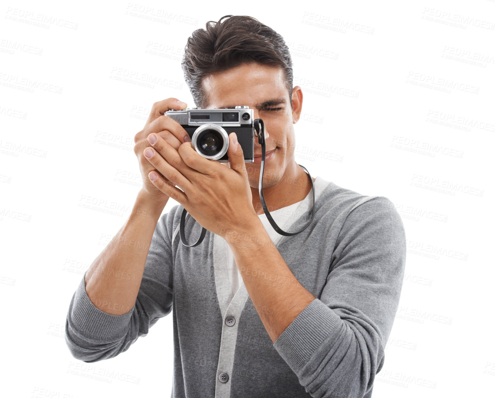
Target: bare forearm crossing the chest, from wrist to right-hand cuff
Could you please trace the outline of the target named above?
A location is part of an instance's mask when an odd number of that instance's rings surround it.
[[[229,235],[226,240],[247,293],[275,342],[315,297],[296,279],[261,221],[254,222],[247,232]]]

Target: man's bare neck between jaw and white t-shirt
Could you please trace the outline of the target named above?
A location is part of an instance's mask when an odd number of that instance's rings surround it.
[[[313,181],[316,179],[312,177]],[[263,188],[263,197],[269,212],[282,209],[286,206],[303,200],[311,191],[311,181],[307,173],[294,162],[291,167],[287,167],[284,177],[278,184]],[[259,198],[259,188],[251,187],[252,207],[259,216],[264,214],[263,206]]]

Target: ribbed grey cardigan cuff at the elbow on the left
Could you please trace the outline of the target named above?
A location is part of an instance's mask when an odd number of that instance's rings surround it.
[[[106,343],[119,339],[127,333],[134,308],[122,315],[111,315],[99,310],[86,293],[83,275],[74,296],[72,320],[87,337]]]

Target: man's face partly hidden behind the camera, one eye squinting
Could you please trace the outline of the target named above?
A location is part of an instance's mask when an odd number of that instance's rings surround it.
[[[254,119],[263,119],[267,137],[263,188],[277,184],[283,178],[286,168],[295,163],[294,124],[299,120],[302,107],[300,87],[293,89],[292,110],[284,73],[278,66],[242,64],[225,72],[206,76],[202,85],[209,102],[205,108],[222,109],[247,105],[253,109]],[[272,150],[274,152],[268,159]],[[258,189],[261,164],[260,158],[256,163],[256,156],[261,156],[261,145],[254,137],[255,163],[246,163],[246,170],[249,185]]]

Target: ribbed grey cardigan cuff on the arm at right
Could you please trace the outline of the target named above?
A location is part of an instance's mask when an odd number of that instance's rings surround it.
[[[315,299],[273,343],[293,371],[303,366],[323,341],[340,328],[342,319],[320,299]]]

